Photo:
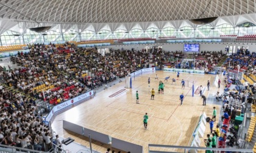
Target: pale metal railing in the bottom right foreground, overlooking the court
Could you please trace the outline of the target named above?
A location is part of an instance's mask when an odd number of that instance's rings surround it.
[[[160,145],[160,144],[149,144],[149,153],[164,153],[164,152],[204,152],[204,151],[215,151],[215,152],[253,152],[252,149],[235,149],[235,148],[205,148],[205,147],[190,147],[190,146],[171,146],[171,145]],[[154,150],[152,150],[154,149]],[[159,151],[159,150],[165,151]]]

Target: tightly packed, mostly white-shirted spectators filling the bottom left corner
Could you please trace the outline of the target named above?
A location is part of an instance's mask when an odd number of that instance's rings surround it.
[[[51,131],[43,123],[42,116],[35,112],[36,107],[27,102],[21,107],[15,107],[10,102],[1,103],[1,144],[37,151],[42,149],[47,151],[52,148]]]

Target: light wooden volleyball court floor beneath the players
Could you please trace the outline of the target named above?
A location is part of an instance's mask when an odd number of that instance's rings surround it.
[[[176,78],[176,73],[157,71],[159,80],[166,76]],[[151,77],[150,87],[148,77]],[[197,86],[206,86],[207,80],[211,84],[215,75],[192,75],[180,74],[177,85],[171,85],[171,78],[165,83],[165,94],[157,94],[158,81],[154,79],[155,73],[148,73],[132,79],[132,89],[127,89],[123,94],[110,98],[121,89],[125,83],[118,83],[115,86],[96,94],[96,97],[73,107],[58,115],[52,123],[60,137],[73,137],[77,143],[89,146],[88,141],[72,132],[62,128],[62,120],[70,121],[80,126],[87,127],[94,131],[102,132],[111,137],[129,141],[143,146],[144,152],[148,152],[148,144],[169,144],[188,146],[191,143],[191,136],[202,112],[212,114],[212,104],[202,106],[202,98],[199,95],[192,97],[192,82],[195,90]],[[186,82],[185,89],[181,89],[180,80]],[[150,90],[155,89],[155,100],[151,100]],[[136,91],[140,97],[140,104],[136,104]],[[205,96],[212,96],[206,91]],[[215,92],[215,91],[214,91]],[[180,106],[179,95],[185,95],[183,105]],[[219,106],[216,106],[219,108]],[[144,129],[143,115],[148,113],[148,129]],[[93,149],[105,152],[107,144],[94,142]],[[163,149],[164,150],[164,149]]]

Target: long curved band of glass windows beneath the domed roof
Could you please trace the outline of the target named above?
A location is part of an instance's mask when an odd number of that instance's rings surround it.
[[[81,33],[75,32],[74,29],[66,30],[66,32],[48,31],[42,35],[41,33],[26,30],[24,33],[13,32],[7,30],[1,34],[1,45],[9,46],[15,44],[28,44],[35,42],[55,42],[55,41],[86,41],[96,39],[124,39],[124,38],[159,38],[174,36],[176,38],[216,38],[221,35],[254,35],[256,34],[256,26],[250,25],[247,27],[238,25],[233,27],[230,24],[221,24],[215,28],[210,25],[200,25],[196,28],[190,26],[180,27],[164,27],[159,30],[155,27],[149,27],[147,30],[132,29],[127,32],[124,29],[115,30],[100,30],[93,32],[91,30],[84,30]]]

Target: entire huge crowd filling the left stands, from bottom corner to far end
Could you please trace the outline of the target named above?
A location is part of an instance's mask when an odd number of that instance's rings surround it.
[[[61,103],[149,64],[163,66],[171,54],[162,50],[147,53],[111,49],[102,56],[96,49],[44,44],[29,48],[29,53],[12,57],[21,65],[19,68],[4,67],[1,71],[0,143],[38,151],[52,148],[52,134],[35,111],[35,100],[44,97],[49,103]],[[89,76],[88,71],[94,75]]]

